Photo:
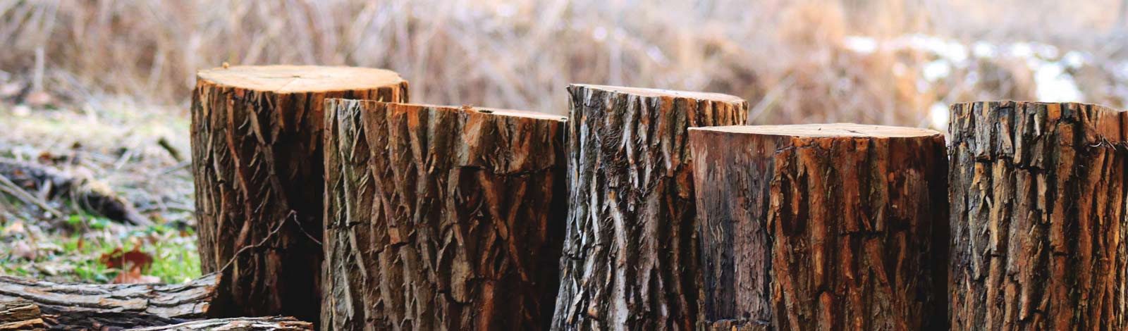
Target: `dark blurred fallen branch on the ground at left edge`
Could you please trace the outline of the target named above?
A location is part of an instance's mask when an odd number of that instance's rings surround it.
[[[69,197],[83,209],[114,221],[152,225],[152,221],[141,215],[133,204],[114,194],[105,184],[74,177],[47,166],[0,159],[0,190],[26,203],[35,204],[52,214],[62,215],[42,199],[27,194],[26,189],[46,190],[49,197]],[[20,195],[20,191],[27,196]],[[28,196],[30,200],[27,200]]]

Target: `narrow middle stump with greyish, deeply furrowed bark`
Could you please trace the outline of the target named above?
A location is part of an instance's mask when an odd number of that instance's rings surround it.
[[[569,87],[569,202],[553,330],[690,330],[699,312],[686,129],[743,124],[726,95]]]

